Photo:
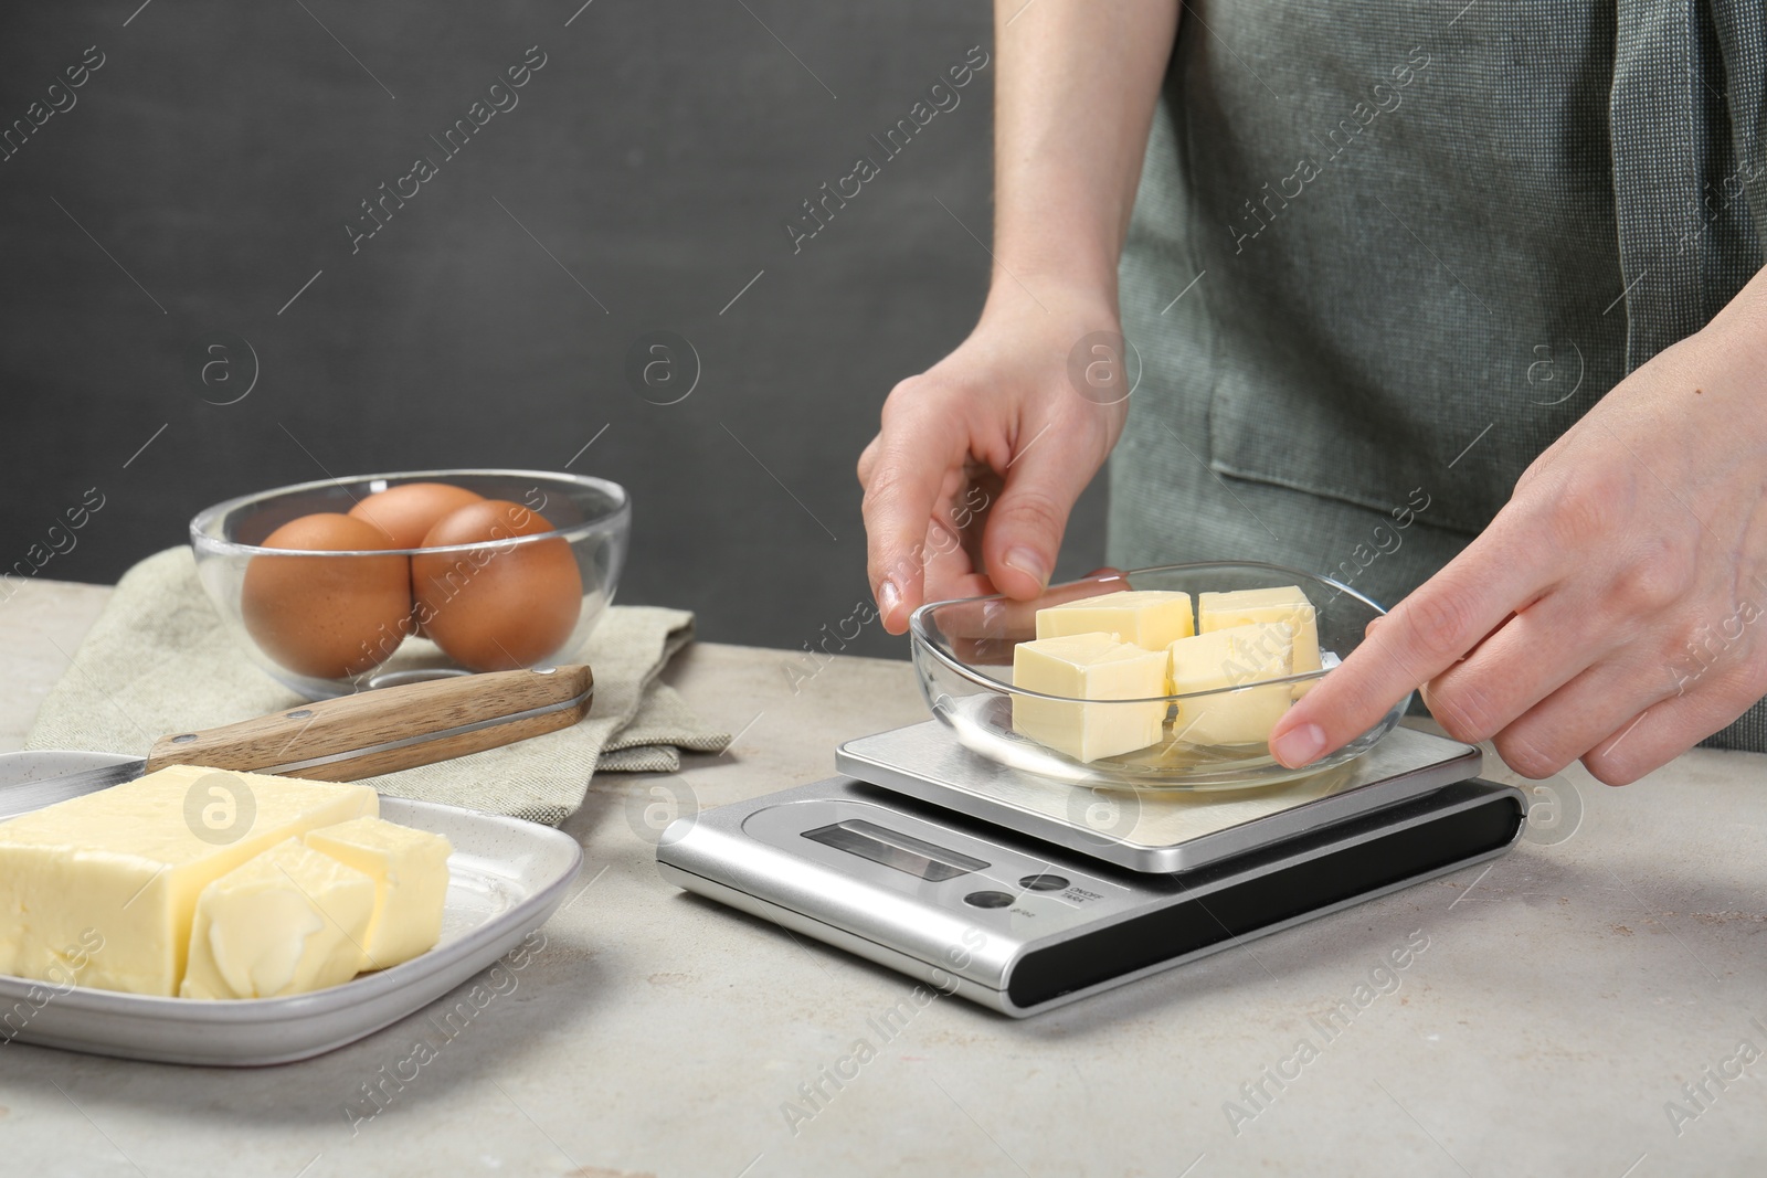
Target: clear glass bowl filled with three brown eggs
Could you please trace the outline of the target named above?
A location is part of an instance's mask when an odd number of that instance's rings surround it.
[[[604,479],[421,470],[216,503],[191,547],[253,662],[325,699],[569,662],[613,602],[631,523]]]

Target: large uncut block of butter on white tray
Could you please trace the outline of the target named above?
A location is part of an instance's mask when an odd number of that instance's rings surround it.
[[[378,814],[369,786],[175,765],[0,823],[0,973],[175,996],[198,894],[277,842]]]

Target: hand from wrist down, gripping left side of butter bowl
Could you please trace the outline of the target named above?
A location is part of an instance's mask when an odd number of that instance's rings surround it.
[[[970,337],[896,385],[859,457],[884,627],[928,600],[1030,599],[1127,417],[1115,295],[998,279]]]

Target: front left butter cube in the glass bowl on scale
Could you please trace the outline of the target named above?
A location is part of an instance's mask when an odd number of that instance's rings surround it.
[[[1120,643],[1113,634],[1069,634],[1020,643],[1012,648],[1012,685],[1067,696],[1012,696],[1012,731],[1080,761],[1157,744],[1166,719],[1161,699],[1108,703],[1166,694],[1166,653]]]

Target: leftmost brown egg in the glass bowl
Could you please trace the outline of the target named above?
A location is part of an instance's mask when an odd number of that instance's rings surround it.
[[[398,547],[366,519],[330,512],[292,519],[262,547],[359,551]],[[345,678],[385,662],[410,629],[410,560],[389,556],[253,556],[240,588],[246,632],[281,666]]]

